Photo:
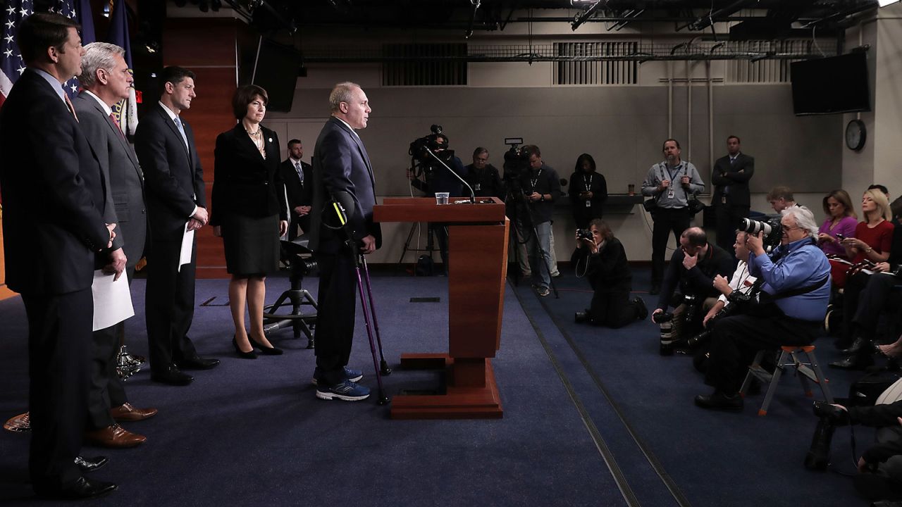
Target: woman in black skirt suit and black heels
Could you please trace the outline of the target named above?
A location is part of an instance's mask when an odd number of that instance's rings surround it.
[[[279,138],[260,122],[266,115],[266,90],[255,85],[235,90],[235,128],[216,137],[216,165],[210,225],[222,236],[229,307],[235,322],[232,345],[245,359],[282,353],[263,334],[266,274],[279,269],[279,238],[288,232],[284,184],[279,172]],[[251,329],[244,328],[244,306]]]

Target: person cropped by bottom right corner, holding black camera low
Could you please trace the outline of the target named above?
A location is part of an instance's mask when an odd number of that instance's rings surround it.
[[[859,457],[860,474],[854,477],[855,488],[872,502],[895,501],[881,505],[902,505],[899,502],[902,500],[902,419],[899,419],[902,418],[902,401],[848,408],[818,401],[815,402],[815,416],[821,421],[805,457],[805,466],[826,468],[835,427],[860,424],[876,428],[877,443]]]

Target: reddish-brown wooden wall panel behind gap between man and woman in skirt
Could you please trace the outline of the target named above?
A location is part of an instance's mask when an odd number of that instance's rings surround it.
[[[235,126],[232,95],[235,93],[235,20],[170,19],[163,32],[163,62],[197,74],[197,97],[182,117],[194,130],[194,141],[204,168],[207,205],[213,186],[213,152],[216,135]],[[226,278],[226,257],[213,228],[198,231],[198,278]]]

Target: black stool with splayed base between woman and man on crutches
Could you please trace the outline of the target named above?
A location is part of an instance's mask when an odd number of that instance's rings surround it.
[[[308,249],[307,242],[304,236],[295,238],[294,241],[281,241],[282,262],[287,263],[291,270],[289,276],[291,288],[282,292],[272,305],[263,307],[263,334],[269,336],[283,327],[290,326],[294,329],[295,338],[299,338],[302,332],[307,336],[307,348],[312,349],[315,341],[310,327],[317,325],[317,300],[313,299],[308,290],[301,287],[304,274],[316,265],[309,260],[313,252]],[[290,314],[276,313],[283,305],[289,304]],[[313,307],[313,311],[305,313],[304,305]]]

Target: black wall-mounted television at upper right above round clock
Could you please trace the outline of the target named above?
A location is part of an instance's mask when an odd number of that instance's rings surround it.
[[[870,111],[868,57],[864,51],[790,64],[796,115]]]

